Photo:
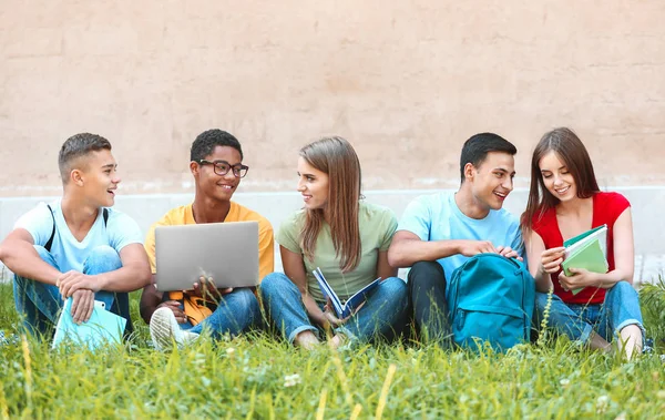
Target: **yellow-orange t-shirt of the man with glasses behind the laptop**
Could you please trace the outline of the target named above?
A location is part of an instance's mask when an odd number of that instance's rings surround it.
[[[268,274],[275,270],[275,238],[273,234],[273,226],[267,218],[259,215],[258,213],[250,211],[237,203],[231,202],[231,208],[224,222],[258,222],[258,276],[259,280]],[[173,226],[173,225],[193,225],[196,224],[194,221],[194,213],[192,212],[192,204],[186,206],[175,207],[164,215],[158,222],[153,224],[147,231],[145,237],[145,252],[150,259],[150,267],[152,273],[155,274],[155,227],[156,226]],[[178,296],[171,296],[173,299],[182,298],[182,294]],[[198,306],[193,304],[194,306]],[[209,305],[201,305],[209,306]],[[191,310],[190,310],[191,309]],[[203,313],[201,311],[203,310]],[[198,324],[203,318],[209,315],[209,310],[205,310],[201,307],[188,308],[185,303],[185,313],[190,316],[192,324]]]

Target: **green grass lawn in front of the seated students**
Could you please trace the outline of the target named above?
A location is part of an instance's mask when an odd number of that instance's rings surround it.
[[[643,289],[661,342],[665,291]],[[267,335],[161,354],[136,336],[96,352],[31,339],[0,346],[1,418],[625,418],[665,412],[664,363],[577,351],[560,338],[508,355],[392,345],[306,352]],[[10,285],[0,330],[14,332]],[[662,348],[657,349],[662,352]]]

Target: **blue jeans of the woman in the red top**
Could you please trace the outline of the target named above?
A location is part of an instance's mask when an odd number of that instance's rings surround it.
[[[542,293],[535,294],[536,328],[543,319],[548,296]],[[630,325],[640,327],[643,341],[645,335],[637,291],[627,281],[618,281],[607,289],[602,305],[565,304],[559,296],[552,295],[546,325],[580,344],[586,344],[594,330],[605,340],[612,341],[613,336],[618,337],[618,332]]]

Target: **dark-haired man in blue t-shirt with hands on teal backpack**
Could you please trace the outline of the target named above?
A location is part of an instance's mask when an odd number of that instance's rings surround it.
[[[469,257],[522,255],[518,219],[503,209],[513,189],[514,145],[493,133],[469,139],[460,158],[461,185],[409,204],[392,238],[388,260],[411,267],[408,283],[413,319],[423,339],[448,342],[446,279]]]

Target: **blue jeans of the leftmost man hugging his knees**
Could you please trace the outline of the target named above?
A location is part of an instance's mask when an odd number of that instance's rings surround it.
[[[39,256],[60,270],[53,255],[43,246],[34,245]],[[122,267],[120,255],[110,246],[103,245],[94,248],[83,263],[83,274],[95,275],[109,273]],[[14,304],[23,322],[23,328],[30,334],[45,336],[53,331],[64,301],[60,290],[54,285],[32,280],[14,275],[13,281]],[[127,319],[126,331],[132,331],[130,319],[130,299],[126,293],[98,291],[94,299],[103,301],[106,309]]]

